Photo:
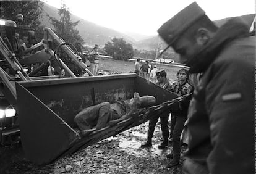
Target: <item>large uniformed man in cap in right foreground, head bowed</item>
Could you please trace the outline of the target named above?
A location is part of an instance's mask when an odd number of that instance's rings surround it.
[[[235,17],[218,28],[193,2],[158,33],[190,73],[202,73],[189,107],[183,172],[255,173],[256,43],[249,26]]]

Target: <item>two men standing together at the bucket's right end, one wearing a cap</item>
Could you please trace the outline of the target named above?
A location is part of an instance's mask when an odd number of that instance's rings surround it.
[[[177,72],[177,81],[173,84],[169,83],[168,78],[166,77],[167,73],[165,70],[156,71],[156,85],[161,86],[161,88],[167,89],[173,93],[176,93],[179,96],[184,96],[186,94],[192,94],[194,91],[194,86],[190,85],[188,82],[189,72],[188,70],[182,68]],[[158,117],[150,118],[148,125],[148,137],[147,142],[142,144],[141,147],[151,147],[152,138],[155,130],[156,123],[160,118],[161,131],[163,136],[163,142],[158,146],[159,149],[164,149],[168,147],[168,137],[171,141],[173,151],[171,154],[168,154],[167,157],[171,158],[171,163],[168,167],[172,167],[179,164],[181,156],[181,133],[184,128],[184,123],[187,120],[187,109],[189,107],[190,97],[179,102],[178,106],[172,107],[171,110],[163,112]],[[169,115],[171,113],[171,126],[170,131],[168,128]]]

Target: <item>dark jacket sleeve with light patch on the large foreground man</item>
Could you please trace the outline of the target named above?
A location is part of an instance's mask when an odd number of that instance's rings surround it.
[[[210,173],[254,173],[255,62],[242,59],[220,60],[205,73]]]

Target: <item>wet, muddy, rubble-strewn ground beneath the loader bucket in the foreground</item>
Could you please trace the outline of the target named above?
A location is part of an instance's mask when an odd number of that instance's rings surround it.
[[[181,147],[181,164],[166,168],[169,164],[166,155],[171,152],[171,145],[166,149],[158,149],[158,144],[162,141],[160,122],[155,128],[153,146],[142,149],[140,144],[147,140],[147,130],[148,122],[49,165],[38,166],[25,158],[12,159],[5,173],[182,173],[183,152],[186,147]]]

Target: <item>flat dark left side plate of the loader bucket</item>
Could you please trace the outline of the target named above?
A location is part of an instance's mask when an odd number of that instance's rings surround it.
[[[18,85],[20,135],[28,159],[46,164],[70,144],[72,128],[23,86]]]

